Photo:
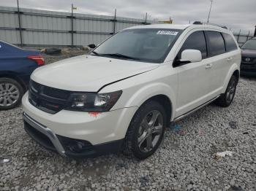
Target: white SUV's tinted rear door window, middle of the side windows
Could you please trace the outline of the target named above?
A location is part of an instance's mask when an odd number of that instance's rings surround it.
[[[222,34],[220,34],[217,31],[206,31],[206,34],[208,36],[208,42],[209,42],[209,49],[210,49],[210,55],[220,55],[222,53],[225,53],[225,42],[222,37]]]

